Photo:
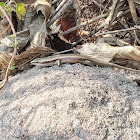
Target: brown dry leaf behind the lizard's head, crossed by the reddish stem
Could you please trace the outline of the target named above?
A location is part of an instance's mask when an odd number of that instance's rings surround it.
[[[54,52],[55,51],[53,49],[48,48],[48,47],[37,47],[37,48],[32,48],[28,51],[23,52],[14,58],[16,69],[12,70],[10,74],[15,74],[18,71],[22,71],[22,70],[30,68],[31,65],[29,62],[31,60],[38,57],[49,56],[53,54]],[[10,62],[11,57],[12,57],[12,54],[8,52],[2,52],[0,54],[0,69],[2,70],[2,78],[5,75],[5,72]]]

